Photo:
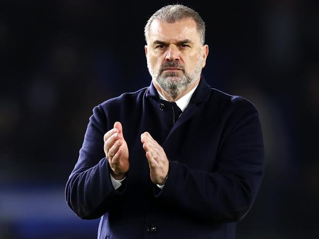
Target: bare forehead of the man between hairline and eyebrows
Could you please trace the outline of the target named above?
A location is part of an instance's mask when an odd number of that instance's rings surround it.
[[[154,20],[150,27],[150,42],[160,40],[164,42],[183,41],[185,39],[199,42],[200,37],[197,32],[196,23],[192,19],[183,19],[175,23],[166,23]]]

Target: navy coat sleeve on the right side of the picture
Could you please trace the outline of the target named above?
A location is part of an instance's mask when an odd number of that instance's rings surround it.
[[[234,222],[246,215],[262,182],[264,143],[258,111],[247,100],[237,101],[214,170],[192,169],[171,159],[164,188],[154,188],[158,200],[213,222]]]

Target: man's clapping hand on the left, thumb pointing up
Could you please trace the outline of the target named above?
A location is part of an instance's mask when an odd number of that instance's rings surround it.
[[[111,168],[111,175],[116,180],[124,178],[129,170],[129,149],[123,137],[122,124],[114,123],[114,128],[104,135],[104,152]]]

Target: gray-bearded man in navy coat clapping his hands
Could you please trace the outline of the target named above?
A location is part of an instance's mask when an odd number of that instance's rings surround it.
[[[206,84],[195,11],[161,8],[145,38],[152,83],[93,109],[67,202],[99,239],[234,239],[262,181],[258,112]]]

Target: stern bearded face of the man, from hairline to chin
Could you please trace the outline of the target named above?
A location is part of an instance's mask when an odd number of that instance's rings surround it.
[[[147,44],[149,72],[155,83],[173,99],[199,80],[208,46],[201,45],[194,20],[153,21]]]

